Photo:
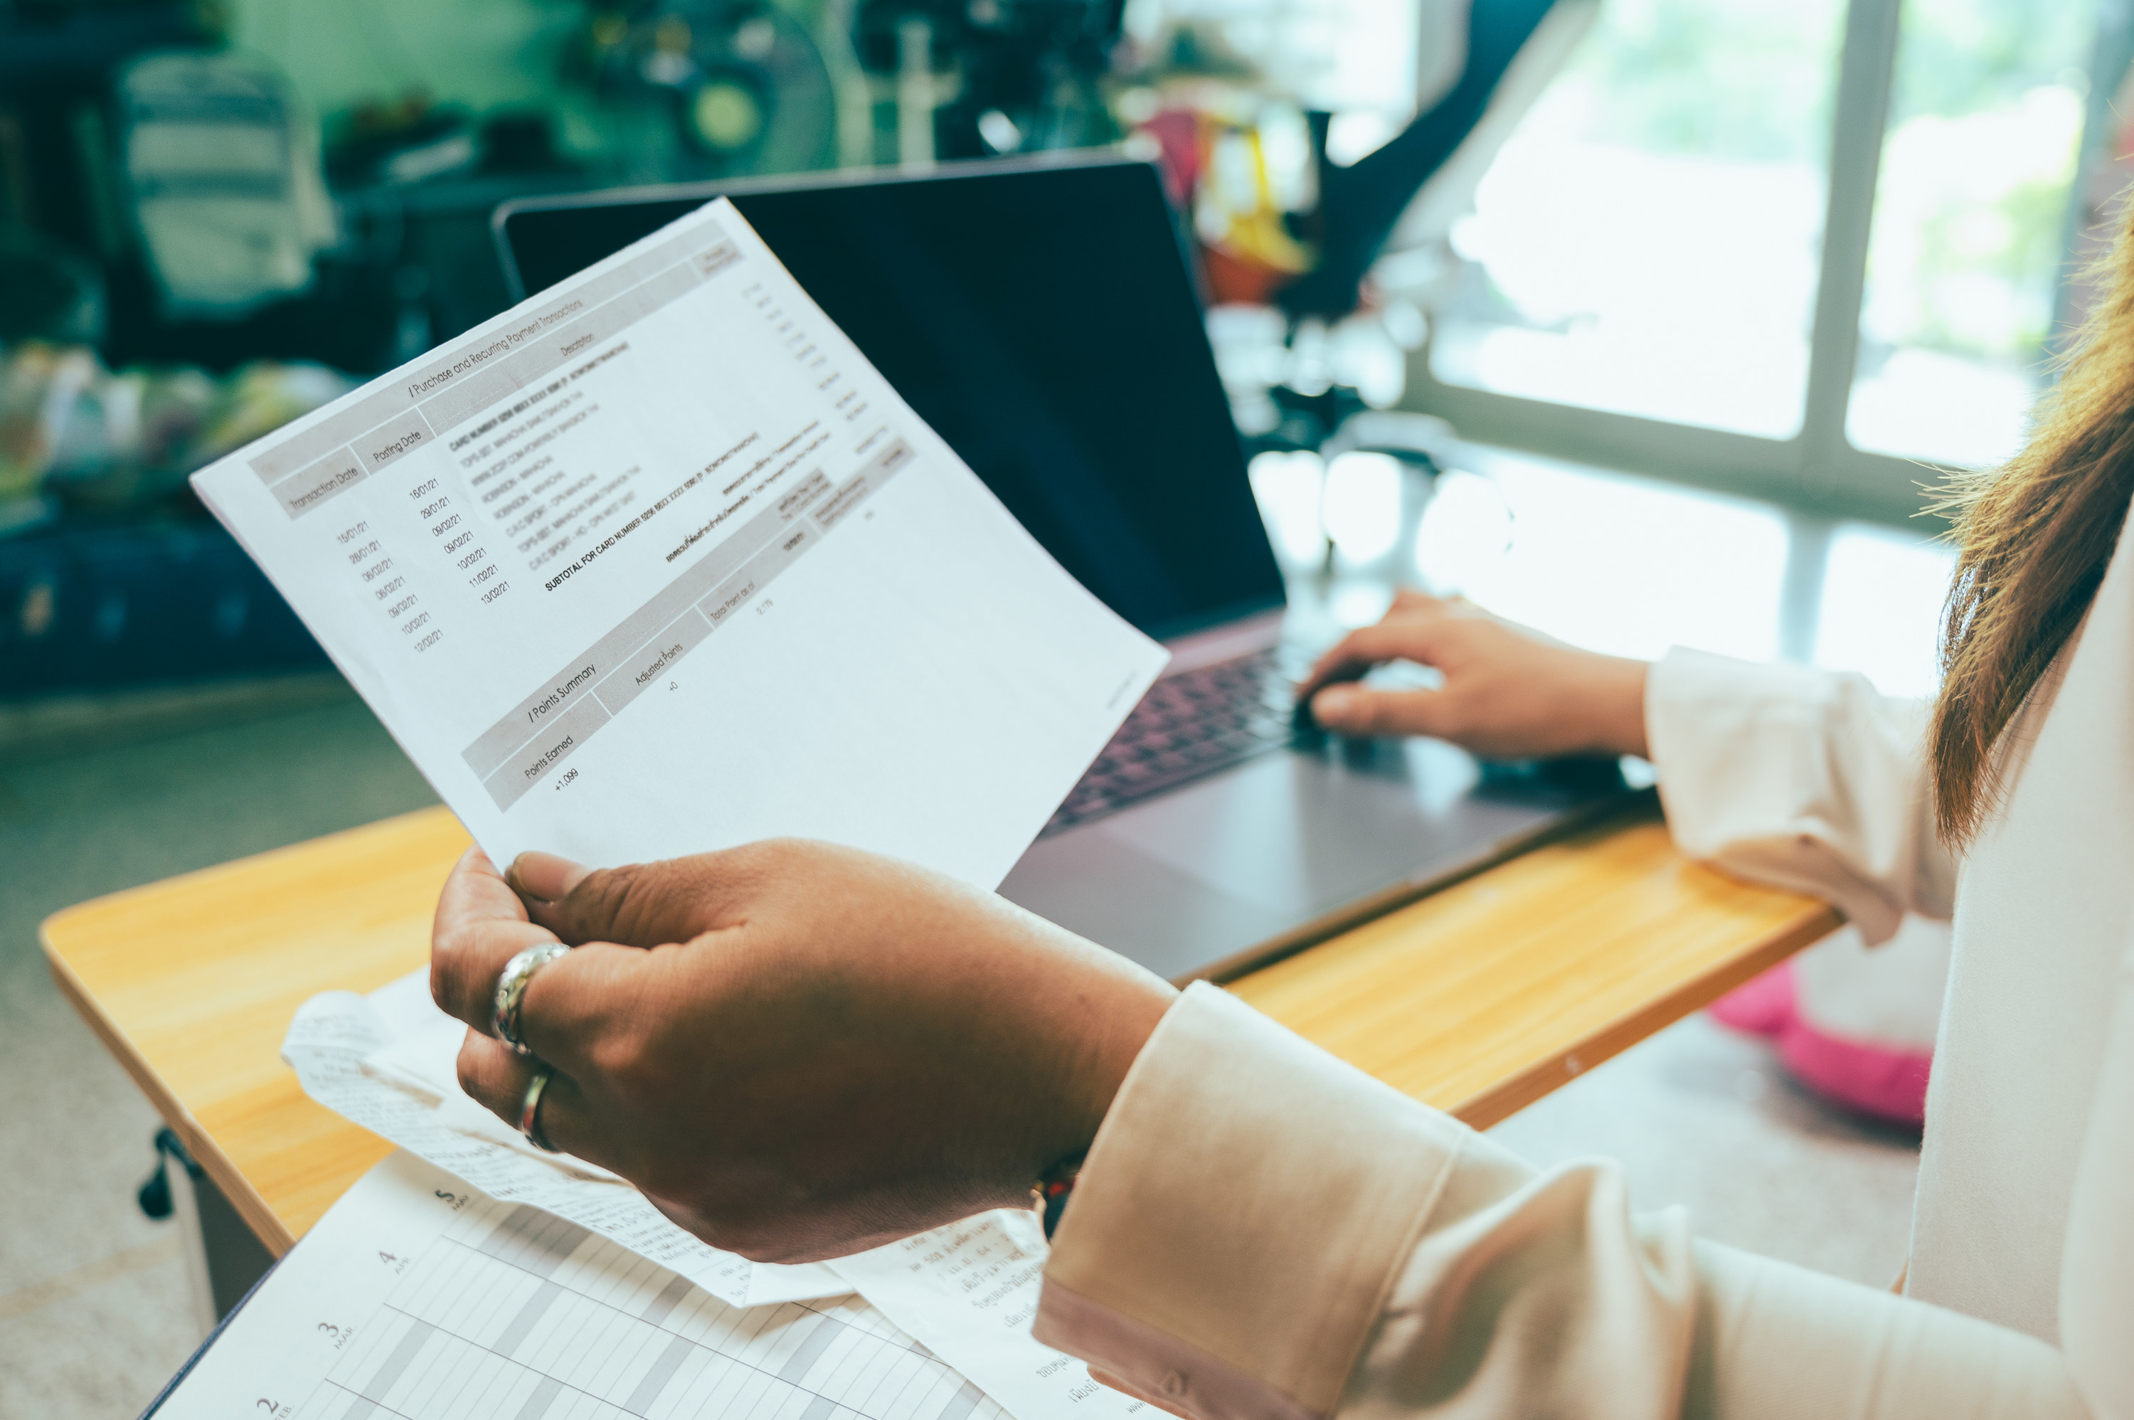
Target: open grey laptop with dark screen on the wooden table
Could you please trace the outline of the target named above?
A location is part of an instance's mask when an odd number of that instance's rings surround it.
[[[1012,901],[1159,976],[1223,980],[1622,794],[1611,762],[1485,767],[1438,741],[1293,724],[1319,647],[1285,617],[1154,167],[1039,158],[508,203],[495,233],[514,297],[713,196],[1061,566],[1174,656],[1001,884]]]

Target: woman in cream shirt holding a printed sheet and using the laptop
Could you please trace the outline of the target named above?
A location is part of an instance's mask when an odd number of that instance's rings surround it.
[[[2134,1416],[2130,352],[2123,243],[2032,448],[1965,489],[1931,707],[1415,596],[1306,683],[1344,735],[1645,754],[1679,843],[1869,942],[1955,916],[1901,1296],[1699,1241],[1611,1162],[1536,1170],[1214,987],[822,843],[469,854],[433,950],[463,1083],[760,1260],[1073,1177],[1037,1337],[1197,1420]],[[1351,683],[1391,658],[1443,685]],[[521,1055],[497,978],[551,942]]]

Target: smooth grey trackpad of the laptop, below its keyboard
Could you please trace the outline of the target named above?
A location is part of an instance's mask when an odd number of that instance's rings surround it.
[[[1227,895],[1317,914],[1528,831],[1530,805],[1468,790],[1472,758],[1436,741],[1270,754],[1140,803],[1099,831]]]

